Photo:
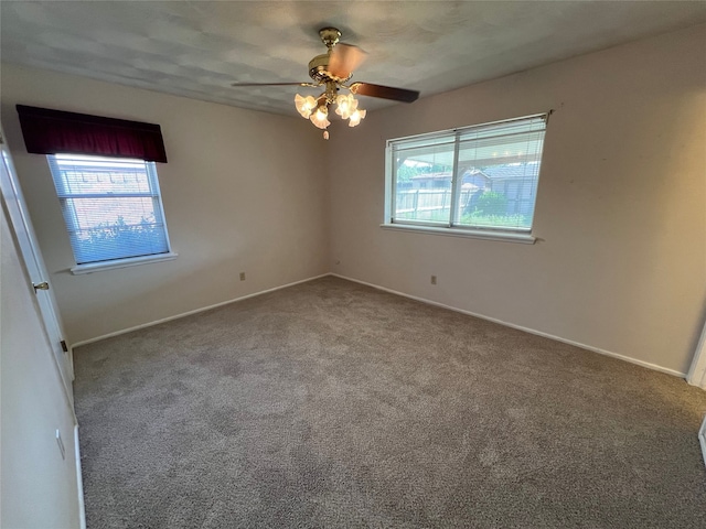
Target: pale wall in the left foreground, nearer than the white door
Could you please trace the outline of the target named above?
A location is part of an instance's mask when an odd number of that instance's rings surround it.
[[[0,527],[78,528],[74,414],[4,207],[0,225]],[[56,443],[57,429],[65,458]]]

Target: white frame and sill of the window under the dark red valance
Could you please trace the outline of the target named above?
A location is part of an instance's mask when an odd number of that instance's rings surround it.
[[[56,196],[60,201],[62,208],[62,219],[64,223],[64,228],[66,229],[67,235],[69,236],[69,240],[72,238],[72,230],[79,229],[77,224],[69,226],[69,217],[76,217],[75,205],[72,201],[81,199],[82,193],[66,193],[63,190],[60,190],[60,181],[61,185],[65,185],[63,176],[61,174],[60,162],[57,162],[56,156],[74,156],[76,159],[99,159],[100,161],[114,161],[116,164],[122,162],[139,162],[145,164],[145,174],[147,176],[147,182],[149,185],[148,192],[136,192],[136,193],[85,193],[88,195],[87,198],[94,197],[96,199],[101,199],[104,197],[110,198],[128,198],[128,197],[145,197],[151,198],[152,205],[154,207],[154,213],[158,214],[161,218],[161,227],[160,229],[163,231],[163,239],[165,242],[165,251],[160,251],[158,253],[147,253],[147,255],[129,255],[125,257],[119,257],[115,259],[106,259],[106,260],[96,260],[96,261],[87,261],[87,262],[78,262],[77,253],[74,248],[74,244],[71,244],[72,255],[74,261],[76,262],[75,267],[72,267],[69,271],[73,274],[83,274],[90,273],[100,270],[113,270],[126,267],[133,267],[139,264],[145,264],[149,262],[159,262],[159,261],[168,261],[173,260],[178,257],[178,253],[172,251],[171,241],[169,238],[169,230],[167,227],[167,218],[164,216],[164,206],[162,204],[162,193],[159,185],[159,175],[157,173],[157,165],[153,161],[139,160],[139,159],[127,159],[119,156],[108,156],[108,155],[89,155],[89,154],[73,154],[73,153],[56,153],[56,154],[47,154],[46,160],[49,163],[49,169],[52,174],[52,180],[54,183],[54,190]]]

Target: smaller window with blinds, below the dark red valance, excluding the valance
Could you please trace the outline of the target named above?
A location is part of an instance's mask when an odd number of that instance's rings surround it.
[[[175,257],[154,162],[77,154],[47,159],[76,258],[72,271]]]

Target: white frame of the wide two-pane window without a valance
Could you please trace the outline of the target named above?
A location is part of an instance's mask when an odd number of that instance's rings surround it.
[[[452,237],[470,237],[470,238],[480,238],[480,239],[490,239],[490,240],[499,240],[499,241],[512,241],[512,242],[523,242],[523,244],[534,244],[537,238],[533,236],[532,230],[534,228],[534,219],[535,219],[535,205],[537,191],[539,186],[539,174],[542,171],[542,159],[544,155],[544,138],[546,136],[547,123],[549,121],[549,116],[552,110],[547,112],[534,114],[530,116],[522,116],[517,118],[503,119],[498,121],[490,121],[484,123],[478,123],[469,127],[461,127],[456,129],[446,129],[435,132],[428,132],[422,134],[414,134],[402,138],[392,138],[386,141],[385,144],[385,203],[384,203],[384,218],[381,224],[382,228],[408,231],[408,233],[422,233],[422,234],[432,234],[432,235],[442,235],[442,236],[452,236]],[[461,191],[459,190],[459,182],[462,175],[460,175],[460,171],[458,169],[458,153],[459,145],[463,142],[463,133],[482,130],[483,128],[488,129],[493,126],[502,126],[503,123],[513,123],[518,121],[531,121],[542,119],[544,121],[544,134],[542,138],[542,149],[539,151],[539,170],[537,171],[536,176],[536,187],[534,193],[534,203],[532,206],[532,218],[530,227],[524,228],[501,228],[501,227],[483,227],[483,226],[468,226],[454,224],[452,222],[456,218],[458,202],[460,198]],[[443,142],[442,140],[448,140]],[[395,219],[395,207],[396,207],[396,177],[395,177],[395,145],[404,145],[405,143],[410,142],[424,142],[428,141],[428,147],[432,145],[442,145],[445,143],[450,144],[453,149],[453,162],[451,170],[451,205],[449,208],[449,223],[440,224],[432,223],[426,220],[418,219]],[[424,143],[419,147],[425,147]]]

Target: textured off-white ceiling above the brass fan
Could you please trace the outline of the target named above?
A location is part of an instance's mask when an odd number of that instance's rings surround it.
[[[229,85],[309,80],[325,25],[368,53],[353,80],[425,97],[706,22],[706,2],[2,0],[0,20],[2,61],[296,116],[317,90]]]

